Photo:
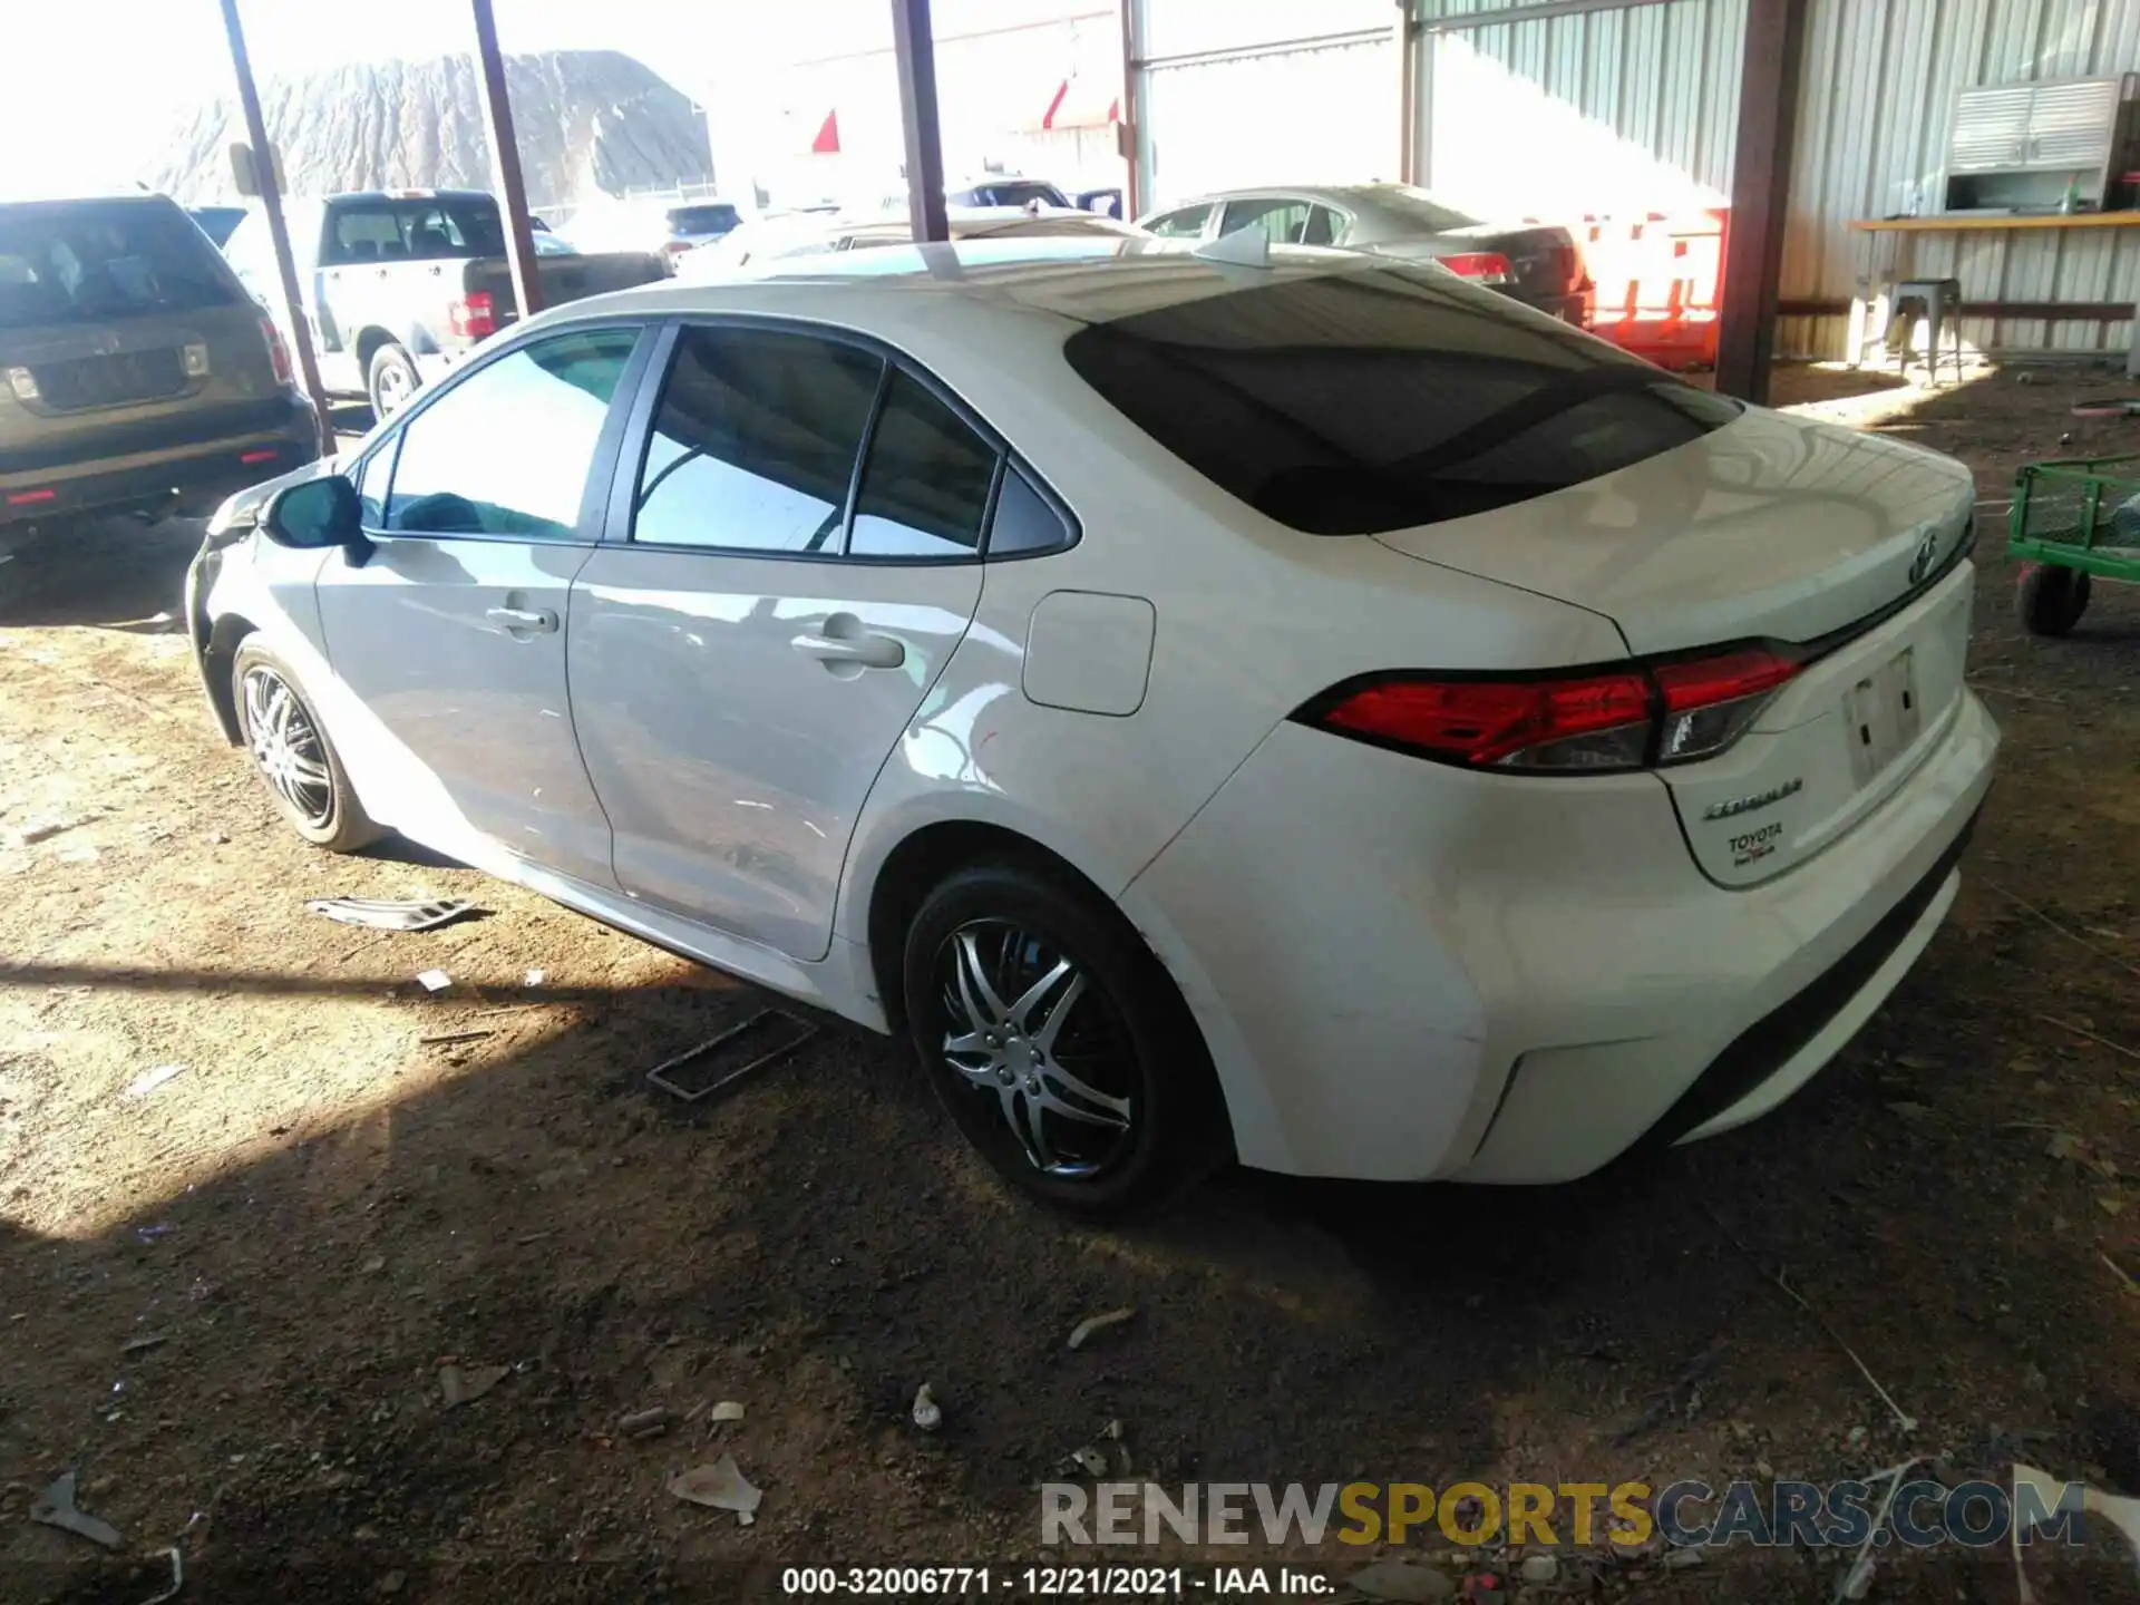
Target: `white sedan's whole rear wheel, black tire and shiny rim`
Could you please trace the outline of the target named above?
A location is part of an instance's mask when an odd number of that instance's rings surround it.
[[[903,991],[937,1098],[1021,1192],[1119,1218],[1226,1158],[1188,1006],[1091,892],[1023,865],[950,875],[907,927]]]

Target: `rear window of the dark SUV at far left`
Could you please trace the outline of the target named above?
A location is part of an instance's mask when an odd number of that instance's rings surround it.
[[[0,327],[229,306],[238,287],[193,218],[141,201],[0,208]]]

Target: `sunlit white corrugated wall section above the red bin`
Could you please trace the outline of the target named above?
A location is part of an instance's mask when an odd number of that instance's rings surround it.
[[[1425,0],[1425,17],[1507,0]],[[1614,6],[1421,36],[1421,171],[1472,212],[1676,212],[1731,188],[1746,0]]]

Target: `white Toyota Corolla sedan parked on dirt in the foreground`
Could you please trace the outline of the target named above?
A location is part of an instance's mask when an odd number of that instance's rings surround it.
[[[1971,482],[1423,265],[576,302],[188,582],[225,734],[877,1031],[1012,1181],[1558,1181],[1776,1106],[1956,892]]]

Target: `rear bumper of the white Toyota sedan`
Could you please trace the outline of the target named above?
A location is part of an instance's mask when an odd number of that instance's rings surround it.
[[[1945,916],[1997,745],[1965,691],[1872,815],[1729,890],[1654,775],[1477,775],[1288,723],[1126,903],[1243,1162],[1564,1181],[1753,1119],[1840,1051]]]

